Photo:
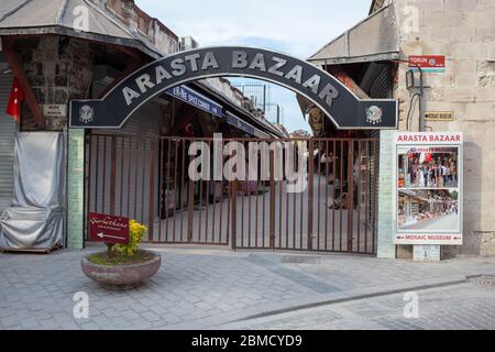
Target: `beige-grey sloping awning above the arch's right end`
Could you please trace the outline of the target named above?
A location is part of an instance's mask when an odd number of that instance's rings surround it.
[[[337,65],[399,58],[394,4],[389,4],[324,45],[308,61]]]

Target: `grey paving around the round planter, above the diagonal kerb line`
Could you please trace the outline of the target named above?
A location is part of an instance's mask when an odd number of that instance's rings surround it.
[[[91,251],[0,254],[0,329],[211,329],[295,308],[495,274],[495,258],[417,264],[168,249],[156,250],[163,254],[162,268],[143,286],[108,292],[80,271],[80,257]],[[73,298],[80,292],[89,296],[89,319],[73,315]]]

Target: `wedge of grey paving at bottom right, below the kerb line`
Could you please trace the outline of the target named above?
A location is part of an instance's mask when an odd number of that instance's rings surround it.
[[[242,330],[494,330],[495,286],[474,283],[418,292],[418,317],[406,319],[404,294],[333,304],[228,323]]]

